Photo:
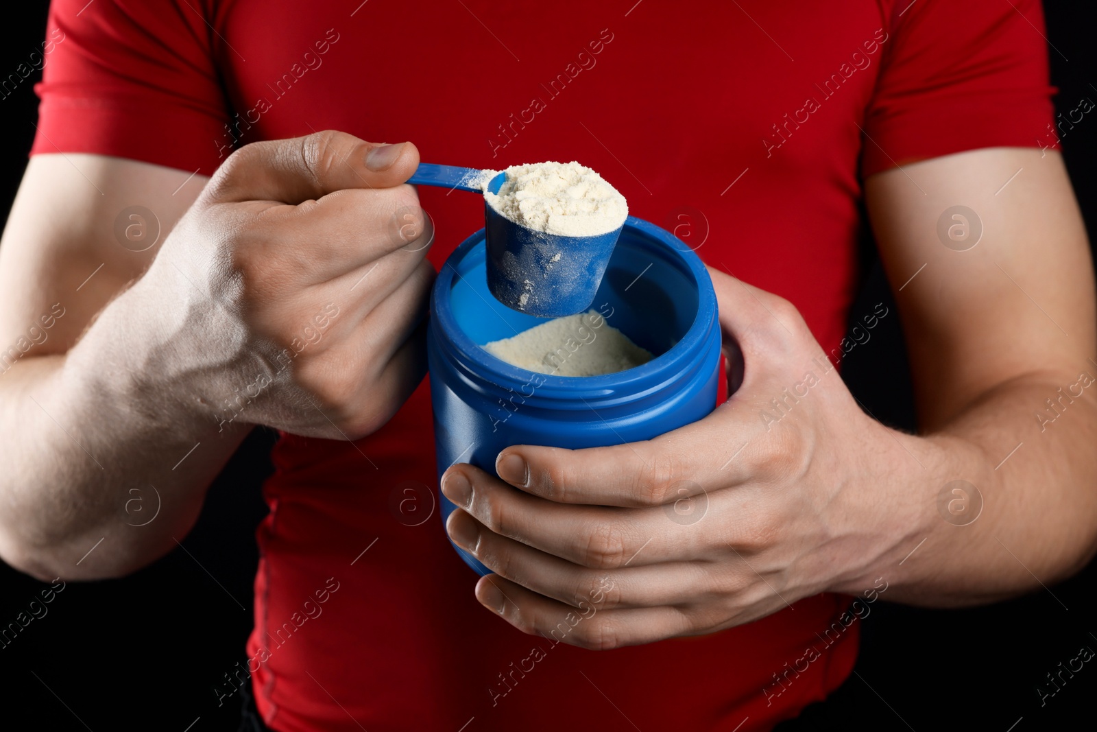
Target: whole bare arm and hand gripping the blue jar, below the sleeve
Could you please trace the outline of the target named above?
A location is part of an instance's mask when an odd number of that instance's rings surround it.
[[[1085,564],[1097,549],[1097,331],[1062,159],[974,150],[873,176],[866,196],[919,435],[864,414],[788,301],[710,269],[725,352],[743,369],[709,417],[617,447],[508,448],[502,480],[467,464],[443,476],[463,508],[451,538],[495,573],[476,585],[485,607],[529,633],[567,622],[566,642],[610,649],[880,581],[890,600],[987,603]],[[937,235],[958,203],[984,230],[966,251]],[[977,494],[952,493],[957,480]],[[682,507],[693,518],[671,520]],[[600,611],[577,622],[591,597]]]

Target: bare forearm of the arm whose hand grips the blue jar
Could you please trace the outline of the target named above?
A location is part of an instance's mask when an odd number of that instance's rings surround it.
[[[1064,371],[1002,384],[927,436],[896,433],[881,483],[902,493],[892,542],[861,584],[884,576],[892,599],[949,607],[1039,589],[1083,566],[1097,549],[1097,384],[1087,365],[1081,381]],[[977,493],[949,486],[958,480]]]

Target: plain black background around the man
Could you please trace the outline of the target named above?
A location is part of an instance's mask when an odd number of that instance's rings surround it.
[[[1044,8],[1054,46],[1052,82],[1060,89],[1056,106],[1065,113],[1083,97],[1097,100],[1090,86],[1097,83],[1093,26],[1084,3],[1054,0]],[[38,49],[43,37],[46,3],[26,3],[20,12],[19,18],[9,14],[0,30],[4,74]],[[0,100],[7,133],[0,146],[2,215],[34,135],[34,80]],[[1064,138],[1064,155],[1090,233],[1097,223],[1095,147],[1097,122],[1086,116]],[[894,308],[871,243],[866,261],[864,290],[851,312],[869,313],[881,301]],[[897,318],[881,320],[871,341],[853,349],[842,378],[878,418],[913,429]],[[197,720],[194,732],[236,729],[238,695],[218,707],[213,687],[224,685],[223,675],[244,658],[251,628],[253,531],[265,514],[260,485],[272,470],[273,441],[271,431],[256,430],[217,478],[183,541],[190,554],[177,549],[125,579],[70,583],[46,606],[45,617],[0,649],[0,727],[182,732]],[[968,610],[877,603],[863,621],[857,674],[830,700],[782,730],[1092,729],[1093,664],[1043,706],[1036,687],[1081,646],[1097,650],[1097,634],[1090,634],[1097,633],[1095,578],[1097,562],[1050,592]],[[46,586],[0,563],[0,627],[14,621]]]

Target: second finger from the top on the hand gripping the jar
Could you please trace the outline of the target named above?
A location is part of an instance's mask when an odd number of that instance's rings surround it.
[[[491,531],[591,568],[614,570],[703,556],[704,532],[663,508],[570,506],[516,491],[478,468],[459,463],[442,493]]]

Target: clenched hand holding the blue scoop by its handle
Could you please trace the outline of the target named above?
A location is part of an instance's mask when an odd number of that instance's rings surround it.
[[[418,164],[339,132],[234,153],[135,285],[172,334],[149,385],[218,424],[384,425],[426,372],[433,230],[402,184]]]

